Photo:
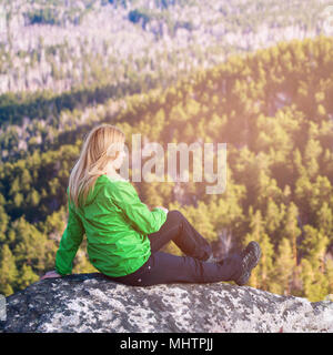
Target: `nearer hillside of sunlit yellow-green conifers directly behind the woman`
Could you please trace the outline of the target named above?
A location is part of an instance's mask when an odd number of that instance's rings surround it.
[[[110,100],[87,116],[62,113],[65,132],[44,146],[29,141],[24,158],[0,165],[0,293],[54,267],[70,170],[84,134],[110,122],[125,132],[130,150],[139,132],[165,152],[170,142],[226,142],[223,194],[205,194],[206,183],[192,180],[133,183],[141,199],[181,210],[222,255],[258,241],[263,257],[251,286],[322,300],[333,293],[332,99],[333,39],[320,36],[231,55],[164,91]],[[49,134],[42,124],[22,129]],[[84,243],[74,272],[93,270]],[[181,255],[172,243],[165,250]]]

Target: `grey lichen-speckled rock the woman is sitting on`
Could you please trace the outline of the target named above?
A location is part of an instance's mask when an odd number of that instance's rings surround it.
[[[0,332],[333,332],[333,302],[231,283],[127,286],[102,274],[39,281],[8,296]]]

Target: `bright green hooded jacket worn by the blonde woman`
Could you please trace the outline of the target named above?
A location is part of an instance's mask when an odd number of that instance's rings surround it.
[[[128,275],[147,262],[151,255],[147,235],[160,230],[167,221],[165,211],[159,207],[150,211],[129,181],[108,175],[97,179],[85,203],[79,203],[78,209],[70,201],[69,187],[67,193],[68,225],[56,255],[60,275],[72,272],[84,233],[89,261],[105,275]]]

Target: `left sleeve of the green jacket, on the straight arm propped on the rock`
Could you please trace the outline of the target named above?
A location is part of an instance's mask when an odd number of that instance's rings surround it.
[[[58,274],[62,276],[71,274],[73,260],[83,240],[84,232],[82,221],[69,203],[68,224],[56,254],[56,271]]]

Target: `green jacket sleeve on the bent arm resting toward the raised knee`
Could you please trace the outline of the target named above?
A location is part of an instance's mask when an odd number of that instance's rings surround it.
[[[158,207],[150,211],[129,182],[112,185],[109,193],[112,202],[122,210],[134,227],[145,235],[158,232],[167,221],[167,212]]]

